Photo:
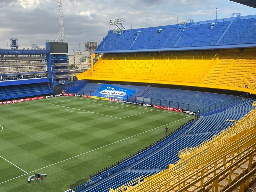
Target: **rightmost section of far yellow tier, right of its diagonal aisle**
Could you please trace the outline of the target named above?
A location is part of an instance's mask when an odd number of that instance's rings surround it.
[[[212,67],[203,83],[212,85],[228,85],[248,87],[253,89],[256,79],[256,52],[253,49],[245,51],[224,51],[219,62]]]

